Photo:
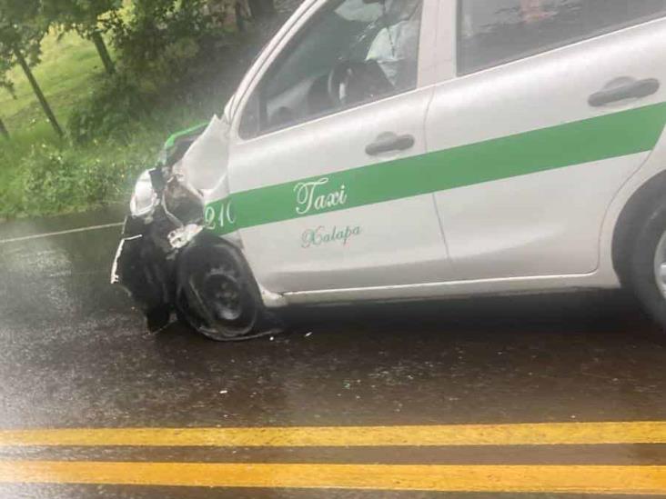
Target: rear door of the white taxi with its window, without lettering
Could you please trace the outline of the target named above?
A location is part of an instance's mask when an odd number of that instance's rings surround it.
[[[455,4],[427,119],[450,278],[594,271],[666,120],[666,2]]]

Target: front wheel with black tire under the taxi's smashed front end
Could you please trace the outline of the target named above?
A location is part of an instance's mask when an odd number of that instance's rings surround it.
[[[178,257],[176,306],[181,321],[215,341],[280,331],[245,259],[224,242],[195,245]]]

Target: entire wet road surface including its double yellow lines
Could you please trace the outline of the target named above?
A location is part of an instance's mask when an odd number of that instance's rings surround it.
[[[149,334],[108,284],[119,219],[0,225],[0,497],[666,494],[666,334],[630,297],[292,310],[288,333],[239,344]]]

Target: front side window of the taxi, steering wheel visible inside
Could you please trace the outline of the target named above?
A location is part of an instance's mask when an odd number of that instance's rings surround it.
[[[416,86],[421,0],[336,0],[301,29],[247,101],[250,138]]]

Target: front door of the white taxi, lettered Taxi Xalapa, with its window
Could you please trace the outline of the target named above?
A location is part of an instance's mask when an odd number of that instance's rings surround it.
[[[318,2],[254,78],[232,127],[228,182],[267,289],[443,274],[433,197],[410,190],[409,169],[426,150],[436,12],[435,0]]]

